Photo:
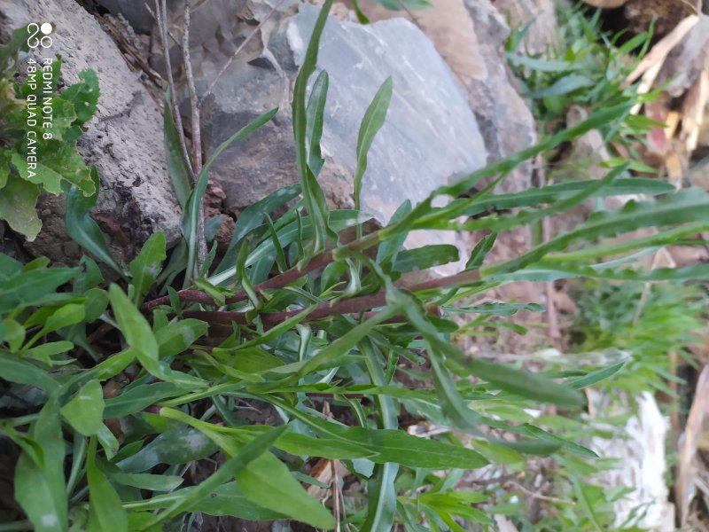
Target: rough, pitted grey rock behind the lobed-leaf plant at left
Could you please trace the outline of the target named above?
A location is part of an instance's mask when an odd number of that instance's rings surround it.
[[[95,214],[109,233],[114,251],[129,260],[154,231],[164,231],[169,243],[178,239],[180,212],[165,165],[159,106],[132,72],[113,40],[97,21],[72,0],[0,0],[0,34],[6,39],[29,21],[56,25],[51,51],[60,53],[66,84],[79,81],[85,68],[97,71],[101,98],[97,114],[87,124],[79,151],[101,177]],[[43,231],[28,245],[33,254],[67,262],[71,247],[64,230],[63,200],[41,200]]]

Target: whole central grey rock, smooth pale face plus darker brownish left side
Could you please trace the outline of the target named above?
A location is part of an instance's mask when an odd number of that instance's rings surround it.
[[[298,179],[290,88],[317,13],[315,6],[303,4],[297,15],[284,17],[261,43],[241,52],[206,98],[202,135],[208,151],[258,114],[275,106],[282,109],[275,121],[232,145],[214,165],[213,176],[235,211]],[[191,45],[193,53],[203,54],[202,61],[195,61],[198,91],[205,90],[228,59],[222,52],[202,52],[208,48],[197,40]],[[486,163],[485,145],[464,93],[432,43],[409,22],[362,26],[331,18],[318,66],[330,74],[320,181],[331,203],[352,205],[357,132],[371,98],[389,75],[393,98],[370,150],[362,186],[365,210],[384,223],[403,200],[422,200],[437,186]]]

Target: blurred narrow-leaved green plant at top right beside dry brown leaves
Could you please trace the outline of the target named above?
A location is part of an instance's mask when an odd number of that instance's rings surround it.
[[[638,94],[636,85],[624,84],[650,47],[651,31],[619,44],[623,33],[604,33],[601,13],[596,10],[588,19],[581,3],[557,9],[557,43],[541,54],[523,49],[527,27],[510,35],[507,59],[543,134],[564,129],[570,106],[582,106],[593,113],[626,104],[629,111],[657,96],[657,90]],[[609,121],[598,130],[605,142],[619,142],[635,154],[633,142],[642,141],[652,125],[657,124],[642,115],[627,113],[623,120]]]

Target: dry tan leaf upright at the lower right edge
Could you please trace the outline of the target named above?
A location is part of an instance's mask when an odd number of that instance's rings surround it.
[[[680,525],[683,527],[687,522],[690,510],[692,493],[695,482],[695,456],[701,434],[704,432],[704,420],[709,416],[709,365],[705,365],[697,379],[694,400],[690,408],[690,415],[687,418],[687,425],[684,427],[684,441],[679,452],[679,464],[677,466],[677,478],[675,483],[675,497],[677,500],[677,512],[680,517]]]

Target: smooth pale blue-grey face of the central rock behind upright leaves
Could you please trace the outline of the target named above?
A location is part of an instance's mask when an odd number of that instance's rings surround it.
[[[303,5],[288,24],[298,65],[317,13]],[[331,79],[323,151],[353,172],[364,111],[381,83],[393,77],[386,122],[371,146],[362,180],[362,205],[380,221],[387,221],[402,200],[417,203],[440,185],[485,166],[485,145],[463,92],[431,41],[408,21],[362,26],[331,19],[318,66]]]

